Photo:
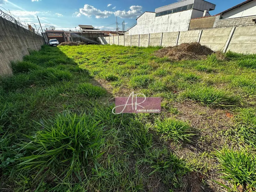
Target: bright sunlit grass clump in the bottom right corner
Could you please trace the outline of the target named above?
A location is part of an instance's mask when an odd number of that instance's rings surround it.
[[[222,151],[216,150],[216,157],[220,163],[221,178],[231,183],[228,186],[219,183],[229,191],[238,191],[242,186],[243,191],[256,190],[256,156],[246,149],[234,151],[233,149],[224,148]]]

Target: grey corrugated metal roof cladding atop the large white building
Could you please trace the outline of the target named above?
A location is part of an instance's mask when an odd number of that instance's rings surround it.
[[[212,3],[208,2],[208,1],[204,1],[204,0],[183,0],[183,1],[179,1],[177,3],[173,3],[173,4],[169,4],[166,6],[156,8],[155,12],[159,13],[159,12],[163,12],[163,11],[175,9],[178,7],[186,6],[186,5],[191,5],[191,4],[193,4],[193,9],[197,9],[200,11],[204,11],[206,9],[211,11],[211,10],[214,10],[216,7],[215,4],[212,4]]]

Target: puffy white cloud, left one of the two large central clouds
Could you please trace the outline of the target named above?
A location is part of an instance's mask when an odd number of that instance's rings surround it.
[[[99,18],[107,18],[111,14],[113,14],[113,12],[106,11],[106,10],[101,11],[100,9],[96,9],[94,6],[85,4],[84,8],[79,9],[79,14],[77,14],[76,17],[80,17],[81,14],[87,17],[95,16],[95,18],[99,19]]]

